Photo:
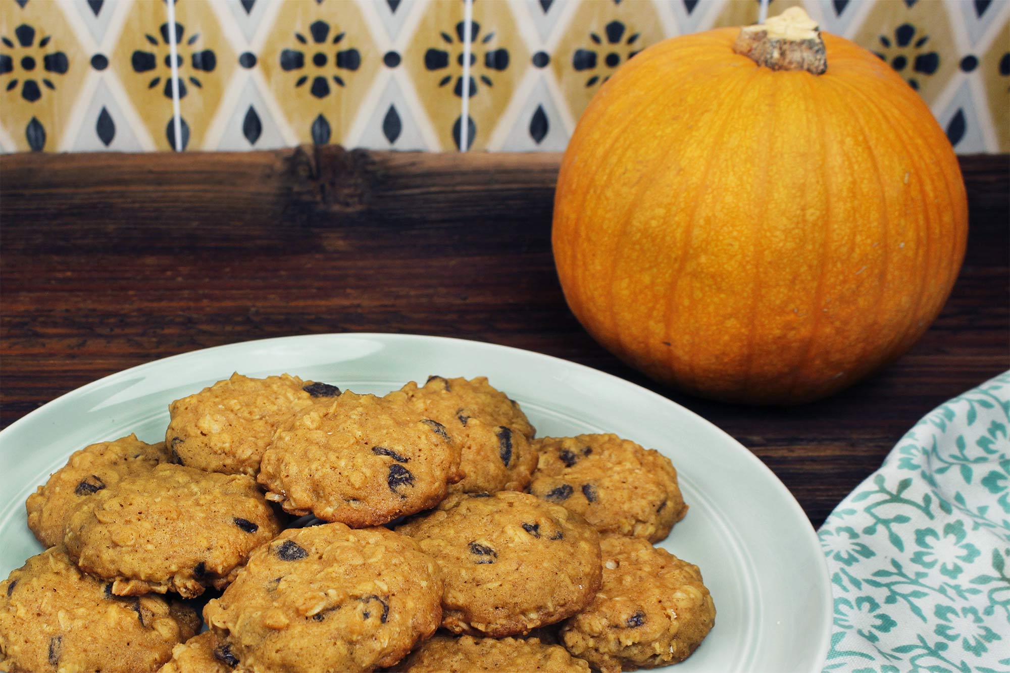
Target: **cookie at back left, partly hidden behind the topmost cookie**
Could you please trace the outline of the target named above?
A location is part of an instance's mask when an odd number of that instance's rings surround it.
[[[340,391],[282,374],[218,381],[169,405],[165,442],[189,467],[224,474],[260,472],[260,459],[282,420],[320,397]]]

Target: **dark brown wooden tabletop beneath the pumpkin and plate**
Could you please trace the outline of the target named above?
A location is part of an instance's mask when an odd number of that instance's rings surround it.
[[[0,158],[0,426],[119,370],[338,331],[514,346],[630,379],[753,451],[819,525],[936,404],[1010,369],[1006,156],[962,161],[971,234],[915,349],[831,399],[747,408],[650,383],[569,312],[550,256],[558,155],[301,148]]]

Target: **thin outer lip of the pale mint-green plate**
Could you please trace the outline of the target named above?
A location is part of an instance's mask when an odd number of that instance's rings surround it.
[[[126,369],[119,370],[111,374],[107,374],[101,378],[95,379],[82,386],[69,390],[66,393],[59,395],[58,397],[55,397],[52,400],[39,405],[38,407],[32,409],[31,411],[24,414],[17,420],[14,420],[12,423],[7,425],[7,427],[0,429],[0,454],[3,453],[3,441],[7,436],[12,434],[11,431],[12,429],[20,428],[22,425],[31,422],[35,416],[39,415],[43,411],[47,410],[52,411],[53,407],[59,407],[60,406],[59,403],[66,402],[66,398],[79,395],[93,388],[98,388],[103,384],[107,383],[110,379],[124,377],[128,376],[131,373],[135,374],[145,369],[164,366],[166,363],[170,363],[173,360],[189,358],[196,354],[207,354],[207,353],[213,353],[215,351],[224,351],[240,347],[249,347],[252,345],[266,345],[271,343],[291,342],[291,341],[312,341],[312,340],[322,341],[331,339],[336,339],[336,340],[373,339],[387,344],[389,342],[396,342],[396,341],[440,342],[446,344],[466,344],[469,347],[477,347],[492,351],[506,351],[519,355],[521,357],[533,357],[535,359],[542,359],[547,362],[553,363],[556,365],[560,365],[562,367],[570,367],[570,368],[575,368],[576,370],[579,371],[589,372],[592,373],[593,376],[602,376],[605,379],[607,379],[608,382],[611,384],[615,384],[618,386],[634,390],[638,394],[645,393],[647,396],[651,397],[654,401],[659,402],[660,404],[673,405],[681,412],[688,414],[688,416],[691,417],[693,422],[707,426],[709,430],[713,430],[716,434],[722,436],[722,439],[724,441],[728,441],[729,443],[735,445],[736,448],[740,450],[740,453],[743,455],[743,460],[747,461],[748,469],[755,469],[759,472],[763,473],[766,478],[770,478],[774,482],[774,484],[776,484],[777,489],[781,490],[788,496],[787,498],[784,498],[785,505],[792,510],[792,513],[794,515],[798,515],[802,520],[807,521],[807,523],[809,524],[808,526],[803,527],[803,535],[802,535],[803,543],[804,546],[808,548],[808,551],[812,552],[813,558],[817,559],[816,565],[817,568],[821,571],[820,573],[818,573],[816,578],[817,580],[816,584],[817,588],[820,589],[821,598],[824,600],[824,603],[826,605],[832,604],[833,595],[831,593],[831,588],[830,588],[830,573],[828,570],[827,561],[824,558],[823,551],[821,550],[820,541],[817,538],[816,530],[814,528],[812,522],[810,521],[806,512],[803,510],[803,507],[800,505],[799,501],[796,499],[796,496],[793,494],[793,492],[789,490],[789,488],[782,482],[782,480],[778,477],[778,475],[776,475],[775,472],[768,465],[766,465],[764,461],[762,461],[752,451],[747,449],[741,442],[739,442],[734,437],[729,435],[727,431],[716,425],[711,420],[708,420],[701,414],[697,413],[696,411],[689,409],[688,407],[670,399],[669,397],[665,397],[664,395],[653,390],[649,390],[644,386],[638,385],[637,383],[628,381],[627,379],[623,379],[617,375],[610,374],[609,372],[604,372],[599,369],[590,367],[588,365],[574,362],[572,360],[566,360],[565,358],[560,358],[558,356],[552,356],[545,353],[539,353],[537,351],[530,351],[527,349],[521,349],[514,346],[495,344],[493,342],[478,341],[473,339],[463,339],[459,336],[421,334],[416,332],[340,331],[340,332],[307,332],[301,334],[287,334],[283,336],[267,336],[262,339],[250,339],[238,342],[230,342],[228,344],[219,344],[217,346],[210,346],[202,349],[194,349],[191,351],[184,351],[182,353],[177,353],[175,355],[157,358],[155,360],[149,360],[147,362],[143,362],[138,365],[134,365],[132,367],[128,367]],[[814,664],[814,667],[810,669],[811,671],[819,673],[827,662],[829,642],[831,637],[831,624],[832,624],[832,619],[830,618],[830,615],[827,615],[824,618],[823,622],[819,624],[821,634],[819,638],[819,643],[817,643],[818,647],[816,649],[821,654],[815,662],[811,662],[812,664]]]

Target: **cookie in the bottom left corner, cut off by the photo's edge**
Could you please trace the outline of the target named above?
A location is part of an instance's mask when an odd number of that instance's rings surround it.
[[[0,670],[153,671],[200,628],[163,596],[119,598],[53,547],[0,582]]]

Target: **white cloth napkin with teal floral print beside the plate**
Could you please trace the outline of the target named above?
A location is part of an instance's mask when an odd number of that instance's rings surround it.
[[[824,671],[1010,672],[1010,372],[940,405],[818,532]]]

